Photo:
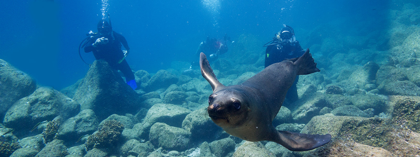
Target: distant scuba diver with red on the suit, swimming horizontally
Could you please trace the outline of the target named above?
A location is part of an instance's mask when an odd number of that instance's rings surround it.
[[[227,41],[231,41],[231,38],[225,34],[222,40],[216,38],[210,38],[207,36],[206,41],[203,41],[198,46],[196,56],[200,56],[200,53],[204,53],[207,56],[209,62],[212,62],[218,57],[228,51]],[[235,41],[231,41],[234,43]]]

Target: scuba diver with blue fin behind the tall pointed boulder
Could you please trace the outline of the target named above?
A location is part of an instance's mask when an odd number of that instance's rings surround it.
[[[126,39],[113,31],[110,24],[105,20],[99,21],[97,28],[100,35],[92,37],[84,47],[84,51],[92,51],[97,60],[104,59],[115,70],[120,70],[126,77],[127,84],[135,90],[137,85],[134,74],[125,59],[130,52]],[[121,44],[126,51],[121,50]]]

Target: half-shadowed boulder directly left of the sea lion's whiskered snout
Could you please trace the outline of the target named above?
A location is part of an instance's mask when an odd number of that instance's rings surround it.
[[[190,131],[194,141],[210,142],[218,139],[223,132],[206,113],[205,108],[198,109],[189,113],[182,122],[182,129]]]

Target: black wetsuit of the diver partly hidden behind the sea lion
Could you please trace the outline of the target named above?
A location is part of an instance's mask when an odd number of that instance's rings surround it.
[[[299,44],[299,41],[287,42],[283,44],[277,41],[277,43],[278,44],[267,46],[267,49],[265,50],[265,67],[268,67],[271,64],[277,62],[281,62],[284,59],[296,58],[304,54],[304,51],[302,51],[303,49]],[[296,76],[293,85],[289,88],[286,94],[286,98],[291,102],[294,102],[297,99],[299,99],[296,87],[298,80],[299,76]]]

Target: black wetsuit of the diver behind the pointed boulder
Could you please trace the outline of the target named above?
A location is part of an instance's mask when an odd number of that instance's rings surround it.
[[[92,44],[95,43],[96,39],[102,37],[108,39],[108,43],[99,44],[96,47],[92,46]],[[124,38],[124,36],[122,36],[121,34],[113,31],[113,37],[111,35],[99,35],[90,39],[87,46],[84,47],[84,51],[92,51],[93,55],[97,60],[104,59],[115,70],[120,70],[124,74],[124,76],[126,77],[126,81],[128,82],[129,80],[134,80],[135,78],[126,59],[124,59],[121,63],[118,64],[118,62],[124,57],[124,52],[121,50],[121,44],[126,50],[130,49],[129,45],[127,44],[126,38]]]

